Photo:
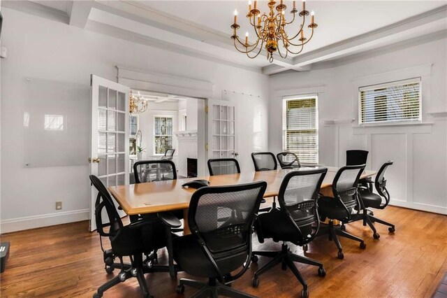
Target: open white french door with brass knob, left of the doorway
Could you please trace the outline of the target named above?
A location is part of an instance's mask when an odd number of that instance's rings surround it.
[[[129,184],[129,92],[129,87],[91,75],[90,173],[105,187]],[[97,194],[91,186],[90,231],[96,229]]]

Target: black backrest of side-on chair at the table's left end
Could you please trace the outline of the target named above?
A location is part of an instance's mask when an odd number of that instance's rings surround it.
[[[101,180],[94,175],[90,175],[89,178],[91,184],[98,190],[98,196],[95,202],[96,232],[101,236],[109,236],[114,239],[123,227],[122,220],[115,208],[112,197],[110,197],[107,188],[105,188]],[[103,208],[105,208],[108,220],[103,220]],[[110,227],[108,232],[104,229],[106,227]]]

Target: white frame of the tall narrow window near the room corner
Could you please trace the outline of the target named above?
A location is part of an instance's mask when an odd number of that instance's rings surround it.
[[[309,162],[306,159],[302,159],[298,155],[298,152],[288,151],[286,149],[286,142],[287,142],[287,111],[286,111],[286,102],[287,101],[294,101],[294,100],[305,100],[305,99],[315,99],[315,136],[316,136],[316,155],[315,155],[315,162]],[[284,118],[285,117],[285,118]],[[293,152],[300,158],[300,163],[302,164],[318,164],[319,162],[319,155],[320,155],[320,145],[319,145],[319,125],[318,125],[318,94],[298,94],[298,95],[292,95],[292,96],[286,96],[282,97],[282,144],[281,148],[283,151]]]

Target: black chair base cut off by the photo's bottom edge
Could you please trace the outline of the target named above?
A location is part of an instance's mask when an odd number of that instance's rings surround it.
[[[198,292],[191,296],[191,298],[199,298],[199,297],[212,297],[217,298],[219,295],[226,297],[234,297],[234,298],[256,298],[256,296],[252,296],[241,292],[239,290],[235,290],[230,288],[230,286],[225,285],[223,283],[219,283],[216,278],[210,278],[207,283],[203,281],[193,281],[188,278],[181,278],[179,281],[179,285],[177,285],[177,293],[182,294],[184,292],[184,286],[188,285],[193,288],[198,288]]]

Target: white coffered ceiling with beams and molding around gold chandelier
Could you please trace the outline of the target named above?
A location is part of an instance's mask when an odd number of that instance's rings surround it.
[[[300,1],[297,1],[300,2]],[[291,7],[291,0],[284,0]],[[300,55],[270,64],[249,59],[230,39],[233,10],[240,12],[240,36],[247,31],[247,1],[1,1],[2,6],[41,17],[265,74],[308,71],[333,61],[429,34],[446,34],[447,1],[307,1],[314,10],[314,38]],[[297,5],[300,5],[298,3]],[[43,9],[44,8],[44,9]],[[267,10],[267,1],[258,1]],[[290,9],[288,9],[290,10]],[[254,34],[254,32],[252,32]]]

